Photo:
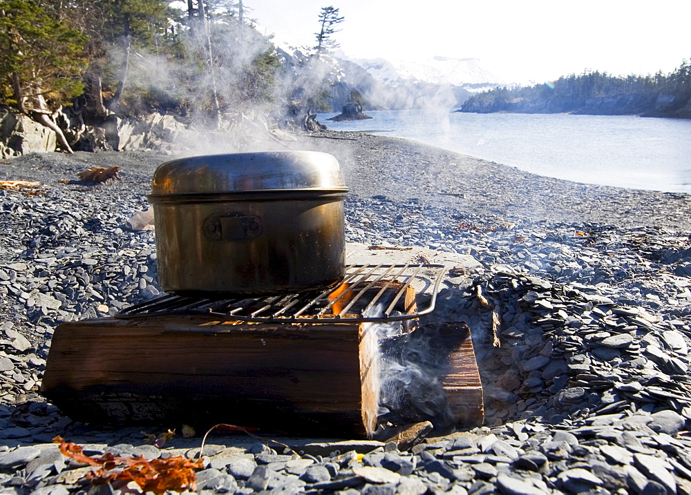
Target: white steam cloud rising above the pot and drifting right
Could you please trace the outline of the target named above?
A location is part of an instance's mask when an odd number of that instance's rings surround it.
[[[278,41],[274,46],[272,37],[237,17],[214,14],[209,38],[200,19],[190,20],[189,26],[171,27],[177,33],[174,49],[131,52],[124,103],[167,114],[162,129],[152,123],[151,146],[156,139],[174,142],[162,147],[176,155],[293,148],[282,129],[299,128],[298,113],[319,111],[315,101],[324,92],[338,105],[358,89],[372,108],[450,108],[455,102],[451,86],[384,84],[352,62],[328,54],[312,57],[308,49]],[[178,59],[170,56],[176,50]],[[119,67],[122,57],[122,50],[114,49],[111,66]],[[213,95],[220,119],[213,117]],[[120,115],[128,112],[121,110]],[[137,128],[137,122],[129,125]],[[140,146],[125,138],[122,143]]]

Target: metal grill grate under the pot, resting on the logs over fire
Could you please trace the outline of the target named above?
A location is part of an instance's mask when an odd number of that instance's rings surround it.
[[[386,322],[413,320],[435,309],[442,264],[354,264],[338,287],[261,298],[194,298],[165,295],[124,309],[115,318],[205,314],[263,323]],[[431,289],[424,309],[413,286]],[[413,294],[413,297],[411,297]]]

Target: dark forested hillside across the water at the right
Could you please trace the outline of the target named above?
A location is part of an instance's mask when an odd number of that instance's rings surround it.
[[[474,95],[460,111],[691,118],[690,100],[691,65],[685,60],[668,75],[621,77],[587,71],[546,84],[495,88]]]

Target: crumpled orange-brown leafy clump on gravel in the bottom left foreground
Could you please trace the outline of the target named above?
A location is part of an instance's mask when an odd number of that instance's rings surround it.
[[[63,455],[79,463],[99,467],[85,476],[94,485],[134,481],[142,492],[195,492],[197,475],[194,470],[204,468],[202,459],[191,460],[180,456],[146,460],[144,456],[118,457],[108,452],[100,457],[89,457],[84,454],[82,447],[75,443],[65,442],[59,436],[53,441],[60,443],[59,449]]]

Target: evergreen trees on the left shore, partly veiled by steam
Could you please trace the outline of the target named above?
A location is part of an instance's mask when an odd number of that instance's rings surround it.
[[[330,32],[288,67],[242,0],[179,6],[0,0],[0,110],[50,128],[70,151],[79,128],[100,126],[107,138],[118,119],[154,112],[214,130],[238,115],[299,122],[319,107],[329,87]]]

